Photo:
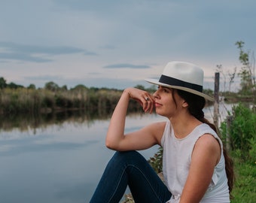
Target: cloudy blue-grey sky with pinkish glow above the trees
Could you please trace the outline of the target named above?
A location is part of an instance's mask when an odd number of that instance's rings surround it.
[[[254,0],[0,0],[0,77],[72,88],[150,86],[170,61],[199,65],[212,89],[256,50]],[[232,86],[236,90],[235,86]],[[225,87],[224,87],[225,88]]]

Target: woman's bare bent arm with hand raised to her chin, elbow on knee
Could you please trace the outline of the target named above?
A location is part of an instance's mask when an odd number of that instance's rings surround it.
[[[148,92],[136,88],[125,89],[114,109],[105,140],[106,146],[112,150],[142,150],[158,143],[156,128],[159,129],[163,126],[159,123],[124,135],[126,111],[130,98],[138,101],[145,112],[152,113],[154,109],[154,98]],[[149,100],[147,101],[146,98]]]

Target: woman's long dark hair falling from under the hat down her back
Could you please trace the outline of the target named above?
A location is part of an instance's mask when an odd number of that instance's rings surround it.
[[[194,95],[190,92],[185,92],[180,89],[176,89],[176,90],[177,90],[178,95],[181,98],[184,98],[184,100],[187,102],[188,111],[190,112],[190,114],[193,115],[194,117],[196,117],[197,120],[200,120],[202,123],[208,124],[218,134],[216,126],[213,123],[210,123],[209,120],[207,120],[204,117],[203,108],[206,105],[205,98],[203,98],[199,95]],[[174,91],[172,91],[172,97],[174,96],[173,94],[174,94]],[[174,98],[174,100],[175,100],[175,98]],[[224,146],[223,146],[223,155],[224,155],[224,159],[225,159],[225,170],[226,170],[226,174],[227,174],[227,184],[228,184],[229,190],[231,192],[233,189],[233,183],[235,180],[235,176],[234,176],[234,172],[233,172],[233,160],[228,155],[227,150]]]

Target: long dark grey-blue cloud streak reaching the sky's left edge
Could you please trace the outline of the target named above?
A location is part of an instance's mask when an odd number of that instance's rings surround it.
[[[0,41],[0,59],[5,60],[14,59],[26,62],[53,62],[53,59],[49,59],[49,57],[73,53],[83,53],[87,56],[97,55],[94,52],[78,47],[37,46]]]

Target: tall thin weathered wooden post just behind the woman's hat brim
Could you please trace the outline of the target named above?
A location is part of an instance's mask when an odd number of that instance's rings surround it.
[[[220,73],[215,73],[215,92],[214,92],[214,114],[213,122],[218,130],[218,116],[219,116],[219,88],[220,88]]]

